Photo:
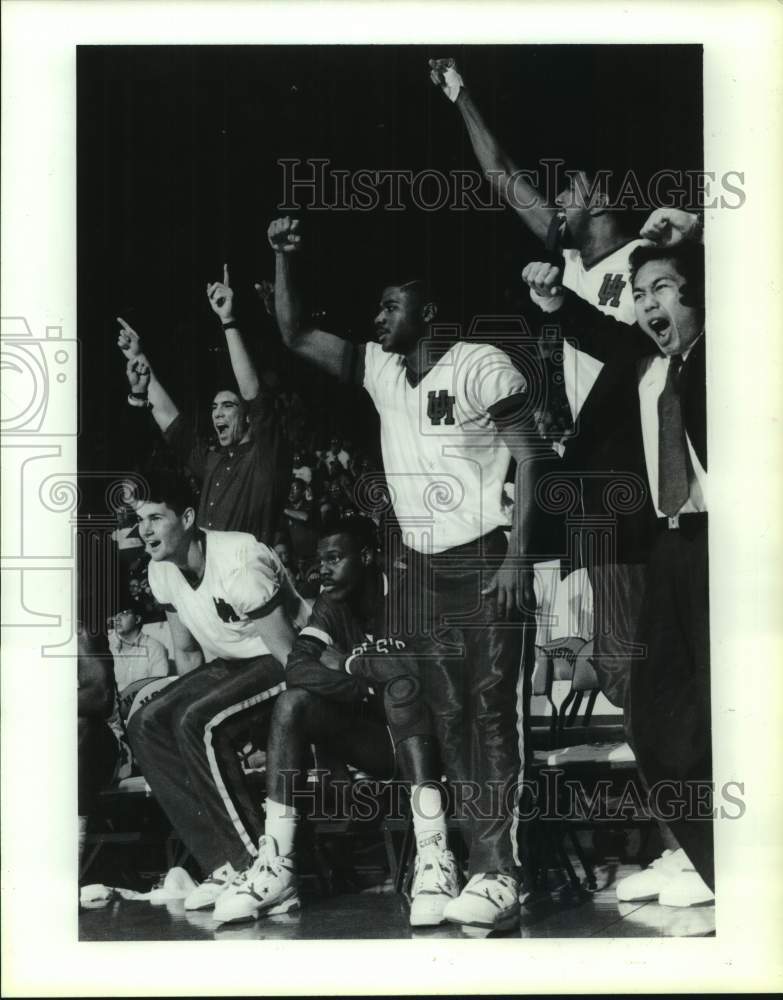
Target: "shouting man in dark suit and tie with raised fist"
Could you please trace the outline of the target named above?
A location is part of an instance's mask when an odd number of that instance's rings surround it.
[[[647,484],[637,530],[649,552],[638,634],[647,657],[631,672],[632,739],[652,807],[712,888],[704,248],[639,247],[630,264],[630,330],[563,290],[550,264],[529,264],[523,277],[557,304],[563,336],[628,389],[627,412],[616,420],[636,446],[627,446],[621,471]]]

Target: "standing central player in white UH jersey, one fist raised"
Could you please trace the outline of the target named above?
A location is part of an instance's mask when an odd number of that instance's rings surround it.
[[[460,794],[470,795],[471,877],[443,915],[510,929],[519,919],[521,623],[535,606],[532,567],[523,568],[534,500],[528,387],[494,347],[429,339],[437,305],[421,281],[384,288],[377,343],[356,347],[315,328],[294,277],[298,222],[274,221],[269,240],[285,343],[363,385],[381,418],[384,470],[407,546],[407,579],[415,581],[405,595],[416,608],[410,645],[458,808]],[[507,543],[502,493],[512,455],[517,503]],[[532,640],[532,628],[524,633]]]

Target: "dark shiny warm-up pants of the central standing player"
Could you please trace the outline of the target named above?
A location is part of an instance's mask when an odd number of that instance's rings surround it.
[[[392,634],[407,632],[417,654],[456,814],[468,820],[471,875],[515,873],[519,865],[525,741],[517,706],[524,704],[523,646],[532,655],[535,624],[521,614],[499,621],[495,595],[481,594],[505,552],[502,530],[435,556],[407,550],[393,596],[399,619]]]

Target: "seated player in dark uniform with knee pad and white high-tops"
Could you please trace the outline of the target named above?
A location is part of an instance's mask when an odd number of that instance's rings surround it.
[[[294,643],[287,690],[278,698],[267,747],[265,836],[250,870],[218,899],[215,919],[255,919],[298,906],[294,840],[299,822],[291,778],[307,777],[312,744],[377,778],[410,781],[418,853],[411,925],[444,920],[458,895],[437,782],[437,743],[416,663],[386,636],[386,577],[374,565],[374,527],[336,522],[318,545],[323,590]],[[352,652],[351,652],[352,650]],[[388,727],[388,728],[387,728]]]

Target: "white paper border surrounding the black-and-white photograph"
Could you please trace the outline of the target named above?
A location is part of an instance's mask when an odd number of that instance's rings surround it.
[[[76,331],[77,44],[441,41],[445,53],[466,42],[702,43],[705,169],[719,176],[743,171],[747,194],[741,210],[706,213],[714,770],[719,783],[744,782],[747,804],[742,820],[716,824],[717,936],[600,943],[79,943],[73,661],[40,656],[46,629],[6,628],[3,994],[780,989],[783,4],[5,0],[2,15],[0,311],[24,316],[36,336],[51,326],[62,327],[66,338]],[[544,80],[542,94],[545,87]],[[533,107],[539,97],[531,95]],[[676,107],[671,111],[677,114]],[[572,112],[584,113],[577,107]],[[611,128],[603,109],[598,112],[598,127]],[[64,404],[64,424],[68,420],[75,420],[72,401]],[[69,474],[75,470],[74,439],[60,443],[58,471]],[[3,485],[6,576],[24,563],[14,558],[13,521],[6,517],[13,503],[7,494],[15,486]],[[29,523],[38,515],[28,509],[23,516]],[[44,519],[42,530],[50,522]],[[52,551],[59,553],[62,544],[52,538]],[[14,556],[7,559],[9,551]],[[40,582],[38,608],[46,606],[40,603],[46,588],[58,586],[56,574],[47,579],[45,569]],[[59,607],[54,590],[52,600]],[[4,623],[16,620],[10,601],[4,596]]]

